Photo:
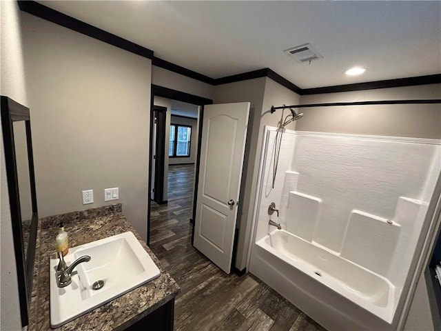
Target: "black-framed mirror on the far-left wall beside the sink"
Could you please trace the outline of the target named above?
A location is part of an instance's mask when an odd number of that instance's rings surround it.
[[[38,223],[29,109],[1,96],[1,128],[17,263],[21,324],[25,327],[28,325]]]

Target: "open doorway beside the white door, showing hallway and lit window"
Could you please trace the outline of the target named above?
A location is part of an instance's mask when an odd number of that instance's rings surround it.
[[[158,108],[163,111],[158,113]],[[193,212],[198,108],[190,103],[154,97],[151,179],[154,199],[150,201],[152,247],[170,241],[185,241],[189,232],[186,229],[192,227],[189,220]],[[158,119],[161,114],[165,114],[163,125],[161,118]],[[163,134],[159,134],[161,126]]]

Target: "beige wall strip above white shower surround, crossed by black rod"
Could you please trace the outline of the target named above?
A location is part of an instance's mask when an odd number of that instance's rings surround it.
[[[440,99],[441,84],[303,95],[302,104]],[[297,130],[441,139],[441,106],[384,105],[303,108]]]

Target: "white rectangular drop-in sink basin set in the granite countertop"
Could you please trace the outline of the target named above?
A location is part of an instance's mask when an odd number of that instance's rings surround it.
[[[70,248],[64,257],[65,263],[70,265],[83,255],[90,255],[90,261],[76,266],[71,274],[72,283],[65,288],[57,285],[59,260],[55,254],[50,257],[52,328],[58,328],[160,274],[158,267],[132,232]],[[96,281],[104,283],[99,290],[92,289]]]

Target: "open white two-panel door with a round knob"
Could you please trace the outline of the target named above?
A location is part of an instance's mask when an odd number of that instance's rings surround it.
[[[205,106],[194,247],[229,274],[249,102]]]

